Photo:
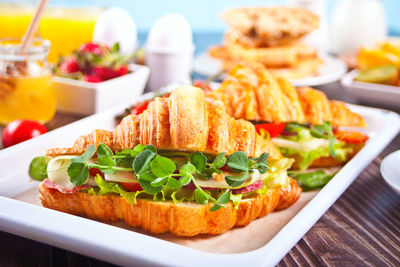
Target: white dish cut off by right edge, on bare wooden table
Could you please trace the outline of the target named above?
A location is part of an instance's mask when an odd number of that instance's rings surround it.
[[[400,150],[389,154],[382,160],[381,174],[386,183],[400,195]]]

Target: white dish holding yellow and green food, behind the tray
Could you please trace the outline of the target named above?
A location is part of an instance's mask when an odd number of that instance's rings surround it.
[[[351,95],[374,104],[400,106],[400,87],[354,81],[358,70],[352,70],[341,79],[341,84]]]

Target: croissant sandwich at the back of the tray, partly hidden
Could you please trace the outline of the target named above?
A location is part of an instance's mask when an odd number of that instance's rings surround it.
[[[364,119],[340,101],[310,87],[296,89],[262,65],[238,65],[222,85],[207,94],[234,118],[252,121],[262,136],[272,138],[293,167],[332,167],[357,153],[368,137],[339,127],[365,127]]]

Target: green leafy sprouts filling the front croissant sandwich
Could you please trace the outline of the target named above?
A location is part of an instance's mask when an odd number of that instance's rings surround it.
[[[97,159],[92,159],[96,152]],[[180,161],[172,160],[169,157],[183,157],[183,161],[186,163],[179,164],[178,162]],[[215,203],[211,210],[216,211],[224,207],[224,204],[230,200],[237,206],[241,197],[233,195],[230,189],[226,189],[223,194],[218,195],[216,198],[199,186],[195,176],[210,179],[214,177],[214,174],[221,174],[222,168],[228,168],[234,175],[225,176],[227,184],[235,188],[246,186],[247,183],[244,182],[249,180],[253,172],[265,173],[269,169],[267,159],[267,153],[258,158],[248,158],[241,151],[231,154],[228,158],[226,158],[225,153],[219,153],[212,159],[201,152],[192,154],[186,152],[158,152],[151,145],[137,145],[133,149],[114,154],[107,145],[101,143],[97,149],[94,145],[91,145],[82,156],[73,158],[67,173],[71,183],[82,185],[89,178],[89,169],[91,168],[97,168],[103,173],[133,171],[143,188],[142,192],[152,195],[155,199],[160,196],[164,199],[167,194],[171,195],[171,198],[176,198],[177,192],[183,186],[192,182],[195,187],[194,200],[200,204]],[[99,179],[96,177],[96,182],[101,188],[98,192],[100,194],[105,191],[121,195],[129,193],[125,192],[116,183],[109,183],[109,185]]]

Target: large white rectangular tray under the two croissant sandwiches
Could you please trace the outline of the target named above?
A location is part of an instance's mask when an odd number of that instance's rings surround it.
[[[365,132],[370,140],[324,188],[303,193],[289,209],[215,237],[179,239],[165,234],[149,235],[138,229],[129,230],[123,223],[110,225],[46,209],[29,197],[37,194],[38,185],[29,181],[27,175],[33,157],[49,147],[69,146],[76,137],[95,128],[113,129],[114,116],[125,107],[93,115],[0,151],[0,230],[119,265],[274,266],[400,129],[400,116],[394,112],[351,105],[366,119]],[[263,239],[263,233],[268,235],[271,227],[276,232]],[[224,250],[232,241],[246,244],[247,249]],[[257,245],[251,246],[252,243]]]

